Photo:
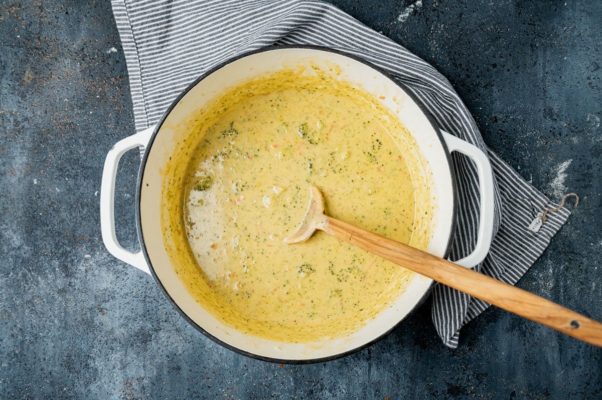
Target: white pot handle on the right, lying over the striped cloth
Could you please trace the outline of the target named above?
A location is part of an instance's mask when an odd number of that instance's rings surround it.
[[[480,188],[480,215],[479,230],[477,232],[477,244],[472,253],[463,259],[455,261],[456,264],[473,268],[485,259],[491,247],[493,239],[493,220],[494,220],[494,186],[493,174],[489,158],[479,147],[468,143],[454,135],[441,131],[445,144],[450,152],[459,152],[468,156],[477,166]]]

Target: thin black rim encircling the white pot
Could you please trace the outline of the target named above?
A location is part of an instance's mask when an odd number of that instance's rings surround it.
[[[167,292],[167,289],[164,287],[163,283],[161,283],[160,278],[155,273],[155,269],[152,265],[151,259],[146,250],[146,245],[144,244],[144,236],[142,234],[142,221],[141,221],[141,210],[140,210],[142,177],[144,176],[144,167],[146,166],[146,161],[147,161],[147,158],[149,155],[148,150],[151,149],[151,146],[152,146],[153,142],[155,141],[155,137],[157,137],[157,134],[160,131],[163,123],[166,121],[167,116],[178,105],[180,100],[182,100],[182,98],[184,98],[184,96],[186,96],[186,94],[188,94],[188,92],[193,87],[195,87],[197,84],[199,84],[200,81],[202,81],[203,79],[205,79],[207,76],[211,75],[212,73],[216,72],[217,70],[221,69],[222,67],[225,67],[226,65],[231,64],[234,61],[237,61],[237,60],[247,57],[249,55],[258,54],[258,53],[262,53],[262,52],[268,52],[268,51],[277,51],[277,50],[281,50],[281,49],[310,49],[310,50],[315,50],[315,51],[330,52],[330,53],[334,53],[334,54],[342,55],[344,57],[351,58],[352,60],[355,60],[355,61],[358,61],[359,63],[365,64],[366,66],[370,67],[371,69],[374,69],[379,73],[382,73],[382,75],[384,75],[386,78],[389,78],[396,85],[398,85],[403,90],[403,92],[405,94],[407,94],[416,103],[418,108],[420,108],[420,110],[423,112],[424,116],[427,118],[428,122],[430,123],[430,125],[433,127],[433,130],[435,131],[435,134],[437,135],[437,138],[439,139],[439,142],[441,143],[442,149],[445,153],[445,158],[447,159],[447,164],[448,164],[448,167],[450,170],[450,177],[452,180],[452,182],[451,182],[452,197],[453,197],[453,199],[452,199],[452,202],[453,202],[452,224],[450,227],[450,235],[447,239],[447,248],[445,249],[444,257],[447,257],[448,254],[450,253],[450,249],[452,247],[452,238],[456,232],[456,217],[457,217],[457,213],[458,213],[458,199],[457,199],[458,188],[456,185],[455,174],[453,174],[453,164],[452,164],[451,153],[447,147],[447,144],[445,143],[443,135],[441,134],[441,130],[439,129],[438,125],[436,125],[435,121],[433,120],[432,115],[426,109],[426,107],[420,101],[420,99],[418,99],[418,97],[416,97],[414,95],[414,93],[412,93],[412,91],[410,91],[409,88],[405,84],[403,84],[402,82],[399,82],[398,79],[396,79],[391,73],[387,72],[385,69],[382,69],[381,67],[374,65],[370,61],[364,60],[363,58],[357,57],[353,54],[349,54],[345,51],[340,51],[338,49],[332,49],[332,48],[327,48],[325,46],[315,46],[315,45],[271,45],[271,46],[266,46],[264,48],[243,52],[241,54],[238,54],[234,57],[229,58],[226,61],[223,61],[220,64],[217,64],[213,68],[209,69],[207,72],[200,75],[199,78],[195,79],[190,85],[188,85],[184,90],[182,90],[182,92],[173,100],[173,102],[169,105],[169,107],[166,109],[166,111],[163,113],[163,115],[161,115],[160,120],[158,120],[157,125],[155,125],[155,129],[152,132],[149,142],[144,147],[144,155],[140,162],[140,168],[138,170],[138,178],[137,178],[137,184],[136,184],[136,198],[135,198],[136,210],[135,210],[135,212],[136,212],[136,229],[138,232],[138,241],[140,242],[140,249],[141,249],[142,253],[144,254],[144,259],[146,260],[146,263],[149,266],[149,270],[151,271],[153,280],[155,281],[155,283],[157,283],[157,286],[159,286],[159,288],[161,289],[161,292],[163,292],[163,295],[167,298],[167,301],[169,301],[169,303],[172,304],[172,306],[178,311],[178,313],[182,317],[184,317],[184,319],[190,325],[192,325],[194,328],[196,328],[198,331],[200,331],[200,333],[204,334],[206,337],[208,337],[209,339],[218,343],[219,345],[222,345],[225,348],[228,348],[234,352],[237,352],[238,354],[246,355],[247,357],[250,357],[250,358],[255,358],[256,360],[272,362],[272,363],[301,365],[301,364],[313,364],[313,363],[321,363],[321,362],[337,360],[338,358],[343,358],[343,357],[346,357],[347,355],[362,351],[363,349],[370,347],[374,343],[379,342],[385,336],[387,336],[389,333],[391,333],[391,331],[395,330],[402,322],[406,321],[411,315],[413,315],[416,312],[416,310],[419,307],[421,307],[424,304],[424,302],[427,300],[427,298],[432,293],[433,288],[435,288],[436,282],[433,281],[430,284],[427,291],[424,292],[424,295],[420,298],[420,300],[417,301],[417,303],[414,305],[414,307],[412,307],[412,309],[405,316],[403,316],[403,318],[401,318],[399,321],[397,321],[397,323],[391,329],[385,331],[384,333],[382,333],[380,336],[374,338],[373,340],[370,340],[369,342],[364,343],[364,345],[358,346],[358,347],[350,349],[348,351],[340,352],[338,354],[329,355],[327,357],[320,357],[320,358],[308,358],[308,359],[303,359],[303,360],[296,360],[296,359],[287,359],[287,358],[265,357],[263,355],[253,354],[251,352],[244,351],[243,349],[232,346],[229,343],[223,342],[219,338],[213,336],[208,331],[206,331],[203,327],[201,327],[199,324],[197,324],[195,321],[193,321],[193,319],[191,319],[184,312],[184,310],[182,310],[181,307],[179,307],[178,303],[176,303],[176,301],[173,300],[173,298],[171,297],[169,292]]]

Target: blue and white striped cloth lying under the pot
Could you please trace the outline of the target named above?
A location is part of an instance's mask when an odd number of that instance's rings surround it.
[[[439,127],[483,149],[496,183],[495,237],[477,270],[514,285],[565,223],[566,209],[527,230],[538,212],[554,208],[483,143],[473,118],[447,79],[389,38],[333,5],[299,0],[112,0],[128,64],[137,131],[157,123],[172,100],[211,67],[268,45],[318,45],[348,52],[387,70],[420,99]],[[479,215],[477,174],[453,156],[458,228],[452,259],[470,253]],[[437,285],[432,316],[445,345],[458,346],[462,325],[489,304]]]

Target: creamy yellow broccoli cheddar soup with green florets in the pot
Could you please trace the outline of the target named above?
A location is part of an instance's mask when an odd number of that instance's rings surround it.
[[[427,247],[423,162],[379,99],[320,70],[285,70],[232,88],[187,129],[166,171],[163,227],[178,276],[211,314],[310,342],[358,330],[404,291],[412,272],[324,232],[283,242],[313,184],[326,214]]]

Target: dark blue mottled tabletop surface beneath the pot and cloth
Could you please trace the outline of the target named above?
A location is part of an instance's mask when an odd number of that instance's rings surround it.
[[[519,286],[602,320],[602,3],[334,3],[447,76],[533,185],[580,195]],[[0,4],[0,398],[602,398],[602,349],[499,309],[456,350],[428,304],[334,362],[221,348],[102,244],[102,164],[132,118],[108,1]],[[138,162],[123,158],[116,192],[132,249]]]

